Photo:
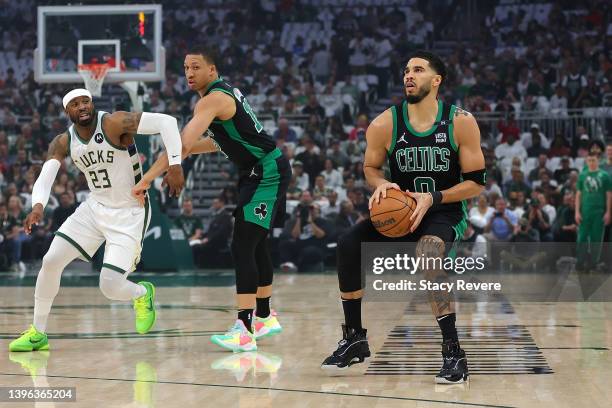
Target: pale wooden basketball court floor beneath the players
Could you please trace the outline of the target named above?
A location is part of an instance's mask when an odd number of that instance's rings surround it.
[[[74,280],[84,286],[60,289],[49,352],[9,353],[10,339],[31,321],[34,288],[31,278],[18,286],[0,276],[0,386],[76,387],[77,395],[71,403],[0,406],[594,408],[612,401],[612,303],[462,304],[470,382],[436,386],[440,337],[426,304],[366,302],[373,358],[330,377],[319,365],[340,338],[334,275],[276,276],[273,308],[284,331],[246,354],[209,341],[234,320],[231,274],[146,278],[161,282],[152,333],[137,335],[130,305],[108,302],[92,275]]]

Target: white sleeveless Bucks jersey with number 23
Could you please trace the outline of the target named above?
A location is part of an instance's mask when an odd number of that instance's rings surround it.
[[[70,157],[87,177],[90,197],[110,208],[138,206],[132,196],[132,187],[142,178],[138,150],[133,144],[121,147],[112,144],[102,130],[102,117],[98,121],[89,142],[81,139],[74,127],[68,128],[70,136]]]

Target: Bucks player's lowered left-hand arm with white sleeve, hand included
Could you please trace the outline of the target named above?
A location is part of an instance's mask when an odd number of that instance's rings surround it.
[[[45,206],[49,202],[51,187],[57,176],[62,160],[68,156],[68,133],[55,136],[49,143],[47,151],[47,161],[43,164],[42,170],[32,188],[32,211],[23,221],[23,229],[26,234],[32,232],[32,225],[36,225],[43,217]]]

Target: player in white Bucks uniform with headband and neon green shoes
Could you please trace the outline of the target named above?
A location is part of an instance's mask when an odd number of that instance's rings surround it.
[[[36,280],[33,324],[10,343],[10,351],[49,349],[47,318],[62,271],[75,258],[91,260],[105,241],[100,290],[111,300],[133,300],[139,333],[147,333],[155,323],[155,288],[150,282],[136,284],[127,279],[140,259],[151,218],[148,200],[143,207],[131,195],[142,177],[134,135],[161,134],[172,160],[169,177],[182,187],[182,144],[176,119],[160,113],[98,112],[86,89],[68,92],[63,104],[72,126],[49,144],[47,160],[32,191],[32,211],[24,221],[26,233],[42,219],[66,157],[85,174],[91,193],[55,233]]]

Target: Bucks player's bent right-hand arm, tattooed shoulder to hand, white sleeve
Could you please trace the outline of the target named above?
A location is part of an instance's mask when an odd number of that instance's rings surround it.
[[[181,167],[181,135],[176,118],[154,112],[115,112],[106,119],[106,129],[110,137],[121,139],[123,135],[160,134],[169,158],[168,184],[170,196],[178,196],[185,186],[185,176]],[[164,169],[165,170],[165,169]]]

